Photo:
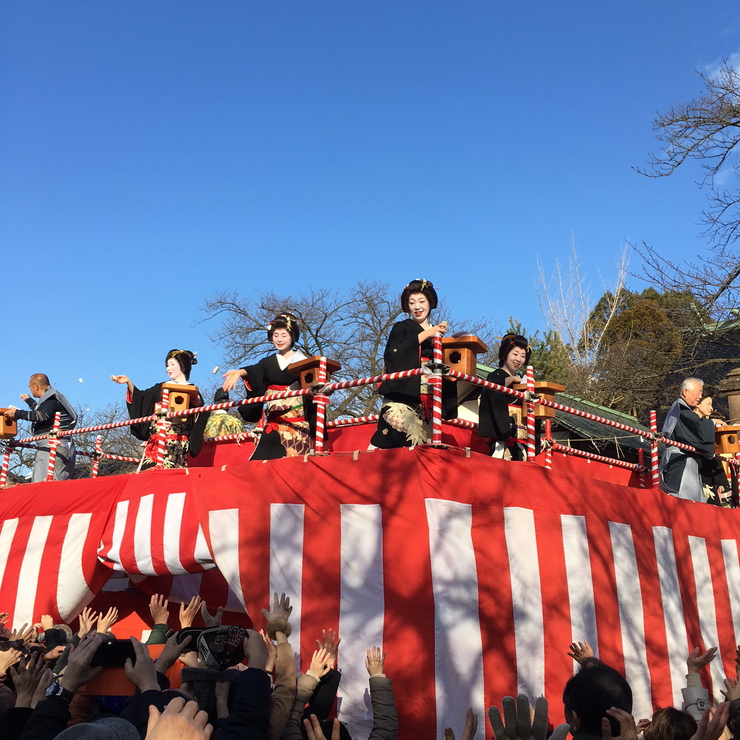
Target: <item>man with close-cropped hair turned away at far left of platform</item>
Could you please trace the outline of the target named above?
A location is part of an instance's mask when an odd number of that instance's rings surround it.
[[[48,434],[54,426],[54,416],[61,414],[62,431],[74,429],[77,424],[77,414],[72,404],[49,383],[49,378],[43,373],[32,375],[28,381],[28,393],[21,393],[21,399],[30,407],[30,411],[23,411],[11,406],[5,411],[9,419],[24,419],[32,422],[32,430],[36,434]],[[33,396],[33,398],[31,398]],[[38,443],[36,460],[33,465],[32,483],[46,480],[49,468],[49,443],[42,440]],[[70,437],[64,437],[57,448],[57,457],[54,465],[54,479],[68,480],[74,478],[75,471],[75,445]]]

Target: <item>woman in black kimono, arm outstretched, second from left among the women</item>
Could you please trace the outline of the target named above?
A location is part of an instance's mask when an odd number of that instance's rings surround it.
[[[247,386],[247,398],[299,390],[298,376],[287,369],[291,363],[306,359],[295,348],[299,336],[296,317],[287,312],[278,314],[267,329],[267,338],[277,352],[255,365],[225,372],[223,389],[231,390],[241,378]],[[259,441],[250,460],[275,460],[312,451],[315,412],[310,400],[301,396],[280,398],[268,401],[265,407],[264,418],[261,406],[238,407],[245,421],[260,422]]]

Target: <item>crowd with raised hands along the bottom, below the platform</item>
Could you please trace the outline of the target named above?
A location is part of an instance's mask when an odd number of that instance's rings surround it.
[[[296,672],[290,644],[292,607],[275,594],[262,614],[259,632],[221,624],[199,597],[180,605],[180,629],[169,628],[168,602],[152,596],[152,629],[146,644],[135,638],[116,641],[115,608],[96,614],[89,608],[73,632],[43,616],[37,624],[10,632],[0,615],[0,737],[3,740],[351,740],[336,717],[341,681],[341,639],[333,630],[317,638],[305,673]],[[198,616],[203,627],[193,627]],[[125,646],[128,657],[116,658]],[[159,645],[156,660],[149,647]],[[740,648],[739,648],[740,650]],[[716,657],[716,648],[694,649],[687,657],[683,706],[657,709],[652,718],[635,721],[627,680],[594,656],[588,642],[574,642],[568,655],[580,665],[565,684],[559,702],[548,708],[540,697],[534,707],[519,695],[505,697],[488,710],[496,740],[718,740],[740,733],[740,681],[725,679],[726,701],[712,707],[701,671]],[[106,658],[108,656],[108,658]],[[108,663],[110,657],[114,660]],[[121,656],[122,657],[122,656]],[[117,662],[116,662],[117,661]],[[129,682],[122,695],[100,694],[95,678],[103,665],[121,665]],[[179,686],[168,674],[179,664]],[[399,736],[393,684],[385,674],[386,655],[368,648],[365,666],[372,702],[372,740]],[[559,718],[565,718],[561,723]],[[474,740],[478,715],[460,709],[460,738]],[[557,726],[556,726],[557,725]],[[725,730],[727,728],[727,730]],[[445,740],[455,740],[447,728]],[[413,727],[403,737],[417,738]]]

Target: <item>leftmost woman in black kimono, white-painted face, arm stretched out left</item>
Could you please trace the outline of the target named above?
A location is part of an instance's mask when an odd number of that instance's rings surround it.
[[[190,370],[198,360],[195,355],[187,349],[171,349],[165,358],[165,368],[168,382],[178,385],[192,385],[190,383]],[[162,398],[162,383],[157,383],[151,388],[140,390],[126,375],[111,375],[114,383],[125,384],[126,407],[129,418],[140,419],[143,416],[151,416],[158,410]],[[203,399],[199,395],[196,405],[202,406]],[[203,443],[203,430],[208,420],[208,414],[196,414],[185,417],[185,421],[168,421],[166,427],[167,441],[165,445],[165,468],[186,468],[187,457],[195,457]],[[143,422],[131,426],[131,434],[137,439],[146,442],[144,456],[139,468],[145,470],[156,466],[157,460],[157,423]]]

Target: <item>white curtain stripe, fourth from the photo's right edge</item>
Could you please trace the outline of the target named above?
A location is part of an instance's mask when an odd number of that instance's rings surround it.
[[[650,671],[645,645],[645,613],[642,608],[640,572],[629,524],[609,522],[612,557],[617,581],[619,625],[625,678],[632,687],[632,711],[636,717],[649,716],[653,710],[650,695]]]

